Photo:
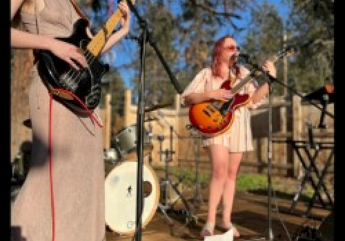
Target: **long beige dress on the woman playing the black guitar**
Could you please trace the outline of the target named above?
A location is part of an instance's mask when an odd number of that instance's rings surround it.
[[[36,1],[36,0],[34,0]],[[43,0],[39,34],[70,36],[79,19],[69,0]],[[28,32],[37,33],[35,14],[20,12]],[[11,210],[11,240],[52,240],[48,127],[50,96],[37,66],[29,90],[32,158],[28,176]],[[99,112],[98,107],[95,112]],[[55,240],[101,241],[105,236],[102,129],[88,114],[52,102],[52,186]]]

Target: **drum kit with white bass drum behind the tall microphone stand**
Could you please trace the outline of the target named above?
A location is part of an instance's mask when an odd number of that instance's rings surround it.
[[[106,224],[119,234],[135,233],[137,202],[137,125],[121,129],[110,142],[112,148],[105,149],[105,209]],[[153,149],[150,133],[144,129],[144,156]],[[142,225],[152,219],[158,207],[159,180],[155,171],[144,163],[144,204]]]

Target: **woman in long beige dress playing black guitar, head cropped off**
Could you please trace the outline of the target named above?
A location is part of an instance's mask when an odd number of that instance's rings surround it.
[[[11,28],[12,48],[47,50],[76,69],[76,63],[88,67],[77,46],[55,39],[70,36],[74,23],[86,18],[74,0],[10,2],[11,21],[14,16],[19,17],[23,26]],[[121,1],[118,8],[121,28],[111,34],[102,52],[129,31],[126,2]],[[89,27],[86,32],[92,38]],[[70,109],[55,98],[50,103],[50,93],[37,64],[32,68],[28,92],[32,123],[30,169],[11,210],[11,240],[104,240],[101,127],[86,110]],[[99,116],[99,107],[92,114]]]

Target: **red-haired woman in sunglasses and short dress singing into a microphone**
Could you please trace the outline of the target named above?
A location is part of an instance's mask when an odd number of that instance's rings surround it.
[[[181,95],[182,103],[191,105],[204,101],[227,101],[231,98],[235,93],[220,88],[221,84],[230,80],[230,86],[233,87],[249,73],[245,67],[237,65],[237,52],[237,43],[231,36],[226,35],[216,41],[212,65],[201,70],[186,87]],[[275,76],[276,70],[272,61],[265,61],[262,67],[271,76]],[[239,90],[239,94],[245,93],[249,94],[250,101],[235,110],[230,129],[217,136],[203,138],[203,147],[207,149],[212,164],[212,177],[209,184],[208,218],[201,230],[202,237],[213,235],[217,205],[221,198],[224,227],[233,228],[235,238],[240,235],[231,223],[237,171],[244,151],[253,150],[249,110],[256,108],[266,97],[268,83],[258,86],[252,79]]]

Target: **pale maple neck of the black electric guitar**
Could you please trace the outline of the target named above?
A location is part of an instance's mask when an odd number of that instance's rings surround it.
[[[92,38],[90,43],[88,43],[87,49],[94,56],[98,56],[101,50],[103,49],[106,41],[112,34],[112,30],[115,28],[119,20],[121,19],[122,14],[119,10],[114,12],[108,21],[103,25],[101,30]]]

